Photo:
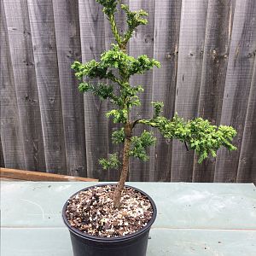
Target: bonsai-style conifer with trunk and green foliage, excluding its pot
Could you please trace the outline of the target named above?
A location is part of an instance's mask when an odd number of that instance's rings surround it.
[[[147,55],[136,58],[126,52],[127,43],[137,26],[148,23],[145,18],[148,13],[142,9],[131,11],[128,5],[120,4],[119,0],[96,0],[96,2],[102,4],[103,13],[109,20],[116,43],[112,44],[111,49],[102,53],[100,61],[91,60],[84,64],[74,61],[72,68],[76,72],[76,77],[82,80],[79,90],[91,92],[102,100],[108,99],[112,102],[114,108],[106,115],[113,118],[113,123],[122,124],[122,128],[113,131],[112,134],[113,143],[124,143],[122,172],[113,198],[114,207],[120,207],[130,157],[148,160],[147,148],[156,141],[153,133],[148,131],[143,131],[140,137],[133,136],[132,130],[136,125],[150,125],[158,129],[166,139],[174,138],[186,143],[199,155],[199,163],[209,154],[215,157],[216,151],[221,146],[229,150],[236,149],[231,144],[232,138],[236,136],[236,130],[230,126],[211,125],[208,120],[201,118],[185,121],[177,113],[172,119],[166,119],[161,115],[164,107],[162,102],[152,102],[154,116],[151,119],[131,119],[131,108],[140,106],[138,94],[143,92],[143,86],[130,84],[129,79],[134,74],[143,74],[153,67],[160,67],[159,61],[150,59]],[[127,30],[124,34],[119,33],[115,22],[118,4],[126,14]],[[83,82],[84,79],[86,82]],[[90,83],[90,79],[108,79],[111,84]],[[100,159],[99,162],[103,169],[117,168],[121,165],[118,154],[109,154],[107,159]]]

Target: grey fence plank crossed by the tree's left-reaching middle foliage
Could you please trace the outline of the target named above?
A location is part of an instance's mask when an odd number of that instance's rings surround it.
[[[104,17],[102,9],[95,0],[79,0],[79,20],[82,60],[99,60],[105,49]],[[94,81],[95,83],[97,80]],[[102,171],[98,163],[108,155],[107,102],[98,97],[84,94],[84,125],[88,177],[106,180],[108,172]]]

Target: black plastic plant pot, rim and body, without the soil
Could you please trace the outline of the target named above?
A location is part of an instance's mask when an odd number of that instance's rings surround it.
[[[96,186],[106,186],[113,184],[100,184],[94,185],[85,189],[79,190],[74,195],[77,195],[80,191],[94,188]],[[156,218],[156,207],[152,198],[144,193],[140,189],[133,188],[131,186],[125,186],[127,188],[132,188],[145,195],[150,201],[153,208],[153,215],[150,221],[146,226],[137,232],[119,237],[100,237],[100,236],[91,236],[85,234],[82,231],[79,231],[73,228],[66,216],[67,203],[65,203],[62,209],[62,218],[64,223],[67,225],[67,228],[70,232],[72,246],[73,246],[73,255],[74,256],[145,256],[147,253],[148,246],[148,234],[151,228],[151,225],[154,223]],[[72,195],[71,197],[73,197]]]

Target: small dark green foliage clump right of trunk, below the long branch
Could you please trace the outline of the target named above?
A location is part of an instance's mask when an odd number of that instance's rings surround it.
[[[131,137],[130,155],[140,160],[148,160],[147,148],[155,144],[156,138],[152,132],[143,131],[141,137]]]

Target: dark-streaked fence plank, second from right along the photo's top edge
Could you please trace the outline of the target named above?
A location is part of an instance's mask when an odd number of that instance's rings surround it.
[[[219,125],[235,1],[209,0],[198,115]],[[195,155],[193,182],[212,182],[215,158],[198,164]]]

